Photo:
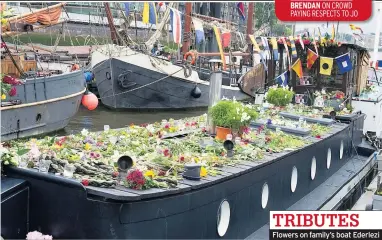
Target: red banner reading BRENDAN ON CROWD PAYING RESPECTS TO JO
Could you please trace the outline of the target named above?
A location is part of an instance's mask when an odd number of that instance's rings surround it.
[[[276,16],[284,22],[366,21],[372,0],[276,0]]]

